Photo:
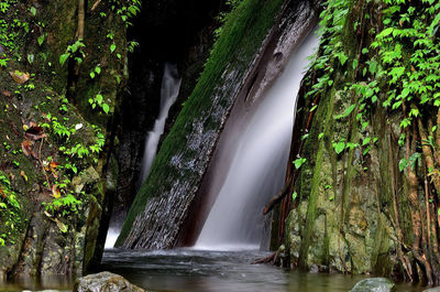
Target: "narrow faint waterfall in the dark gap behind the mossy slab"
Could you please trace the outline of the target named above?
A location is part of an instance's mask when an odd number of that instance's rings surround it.
[[[161,109],[156,121],[154,122],[154,128],[148,131],[145,140],[144,156],[141,164],[141,174],[138,183],[138,188],[145,181],[146,175],[150,172],[153,160],[156,156],[157,144],[161,136],[165,129],[165,121],[168,117],[169,108],[176,101],[182,79],[178,77],[177,65],[172,63],[164,64],[164,76],[162,77],[161,87]],[[110,227],[107,232],[105,248],[109,249],[114,246],[121,228]]]

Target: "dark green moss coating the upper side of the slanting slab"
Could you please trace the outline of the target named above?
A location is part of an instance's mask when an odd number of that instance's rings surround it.
[[[244,76],[246,68],[260,48],[268,30],[274,24],[282,0],[243,0],[228,17],[219,40],[215,43],[204,73],[198,80],[189,99],[178,116],[169,134],[164,140],[161,151],[155,159],[151,173],[141,187],[129,212],[117,245],[121,245],[128,236],[134,218],[141,213],[151,196],[160,195],[169,190],[176,180],[185,180],[197,184],[198,174],[185,171],[183,176],[169,164],[177,153],[185,155],[188,161],[197,158],[197,151],[187,151],[187,133],[191,132],[193,121],[200,116],[209,115],[212,107],[212,95],[222,86],[224,73],[235,72]],[[220,82],[220,84],[219,84]],[[227,85],[220,104],[231,105],[231,86]],[[204,125],[205,130],[219,130],[220,125],[212,119]]]

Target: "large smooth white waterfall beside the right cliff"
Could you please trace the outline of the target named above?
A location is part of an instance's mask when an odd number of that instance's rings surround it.
[[[264,204],[283,187],[296,96],[307,56],[318,46],[310,33],[265,93],[240,137],[228,175],[195,249],[256,249],[263,235]],[[237,136],[235,136],[237,137]],[[220,158],[221,159],[221,158]]]

